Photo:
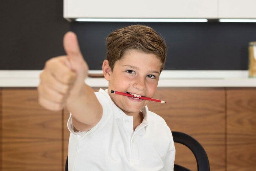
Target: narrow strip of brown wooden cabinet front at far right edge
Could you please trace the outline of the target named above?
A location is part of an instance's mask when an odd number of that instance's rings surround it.
[[[227,171],[256,170],[256,88],[227,89]]]

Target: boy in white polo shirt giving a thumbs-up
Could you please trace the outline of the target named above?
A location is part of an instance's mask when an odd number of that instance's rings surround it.
[[[166,58],[166,44],[150,27],[132,25],[113,31],[102,71],[109,87],[94,93],[84,83],[88,66],[76,35],[64,36],[66,56],[45,64],[38,102],[71,113],[69,171],[172,171],[175,148],[165,121],[148,111]],[[126,92],[134,97],[110,93]]]

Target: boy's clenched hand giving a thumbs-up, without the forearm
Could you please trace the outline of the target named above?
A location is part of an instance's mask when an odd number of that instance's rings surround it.
[[[79,98],[88,74],[75,33],[66,33],[63,45],[67,55],[46,61],[37,87],[39,104],[53,111],[62,110]]]

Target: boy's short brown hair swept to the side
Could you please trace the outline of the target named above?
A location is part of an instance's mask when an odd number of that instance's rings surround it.
[[[107,38],[107,56],[111,70],[128,49],[138,49],[146,53],[153,53],[165,65],[167,46],[163,38],[148,26],[132,25],[113,31]]]

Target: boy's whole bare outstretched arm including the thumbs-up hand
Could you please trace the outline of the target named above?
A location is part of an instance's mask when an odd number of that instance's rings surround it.
[[[79,49],[76,35],[65,34],[67,55],[48,60],[40,74],[38,102],[45,109],[58,111],[64,106],[72,113],[74,127],[90,130],[102,117],[102,106],[93,89],[84,83],[88,66]]]

